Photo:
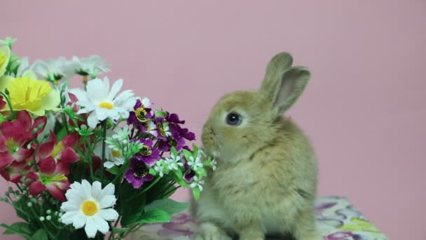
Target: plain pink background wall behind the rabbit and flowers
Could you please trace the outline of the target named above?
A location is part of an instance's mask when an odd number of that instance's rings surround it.
[[[290,51],[312,70],[289,115],[316,147],[320,195],[348,196],[390,239],[426,239],[425,1],[105,2],[4,1],[0,37],[30,60],[102,55],[198,136],[222,94],[257,88]]]

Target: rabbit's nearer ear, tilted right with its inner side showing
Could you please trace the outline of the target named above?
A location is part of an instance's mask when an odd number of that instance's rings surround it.
[[[291,67],[282,74],[280,84],[273,93],[273,111],[282,114],[300,97],[310,79],[310,71],[306,67]]]

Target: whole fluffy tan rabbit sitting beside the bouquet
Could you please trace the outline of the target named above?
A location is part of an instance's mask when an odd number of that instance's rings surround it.
[[[314,202],[317,161],[310,140],[282,114],[310,80],[278,53],[256,91],[235,91],[214,105],[202,126],[202,148],[217,160],[191,211],[195,240],[263,240],[291,234],[317,240]]]

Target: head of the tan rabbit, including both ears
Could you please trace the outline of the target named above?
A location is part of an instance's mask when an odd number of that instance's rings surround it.
[[[202,128],[202,145],[218,161],[237,162],[272,145],[281,115],[294,104],[310,79],[305,67],[291,67],[289,53],[275,55],[257,91],[224,95]]]

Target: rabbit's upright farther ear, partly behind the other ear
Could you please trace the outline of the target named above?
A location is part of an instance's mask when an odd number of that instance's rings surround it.
[[[265,78],[262,81],[261,91],[273,93],[282,79],[282,73],[291,67],[293,58],[290,53],[278,53],[273,56],[266,67]]]

